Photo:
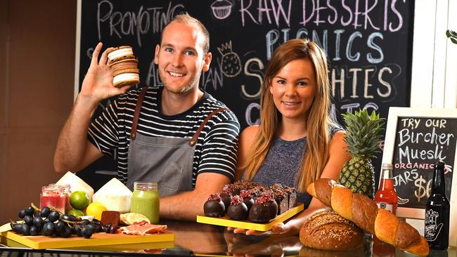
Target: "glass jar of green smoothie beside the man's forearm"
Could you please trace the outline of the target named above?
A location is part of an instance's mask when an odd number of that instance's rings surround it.
[[[151,224],[159,222],[160,197],[155,182],[134,182],[134,193],[131,195],[130,211],[141,213]]]

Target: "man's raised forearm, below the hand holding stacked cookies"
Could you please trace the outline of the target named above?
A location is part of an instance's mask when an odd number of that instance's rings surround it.
[[[87,129],[97,103],[78,96],[60,136],[54,154],[54,169],[57,172],[76,171],[81,165],[86,150]]]

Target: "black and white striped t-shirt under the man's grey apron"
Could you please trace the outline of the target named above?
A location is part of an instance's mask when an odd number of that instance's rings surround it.
[[[150,137],[189,138],[213,110],[226,107],[204,92],[202,98],[181,114],[167,116],[160,112],[163,86],[150,87],[141,105],[137,133]],[[103,154],[117,152],[117,178],[127,183],[127,155],[130,144],[131,124],[139,90],[120,95],[89,126],[89,140]],[[233,181],[238,152],[240,124],[235,114],[224,110],[214,114],[202,129],[195,144],[192,185],[199,173],[220,173]]]

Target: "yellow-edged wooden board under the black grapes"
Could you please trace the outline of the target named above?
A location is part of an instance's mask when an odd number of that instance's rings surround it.
[[[173,233],[163,233],[155,235],[124,235],[95,233],[91,238],[72,236],[45,237],[45,236],[22,236],[13,231],[0,232],[0,236],[11,239],[20,244],[24,244],[33,249],[54,249],[54,248],[73,248],[80,246],[105,246],[105,245],[125,245],[152,242],[174,242]]]

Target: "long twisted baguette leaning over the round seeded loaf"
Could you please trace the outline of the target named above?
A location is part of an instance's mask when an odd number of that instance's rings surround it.
[[[378,209],[375,202],[368,197],[353,193],[347,187],[327,178],[311,183],[307,192],[382,242],[418,256],[428,255],[428,243],[415,228],[389,211]]]

